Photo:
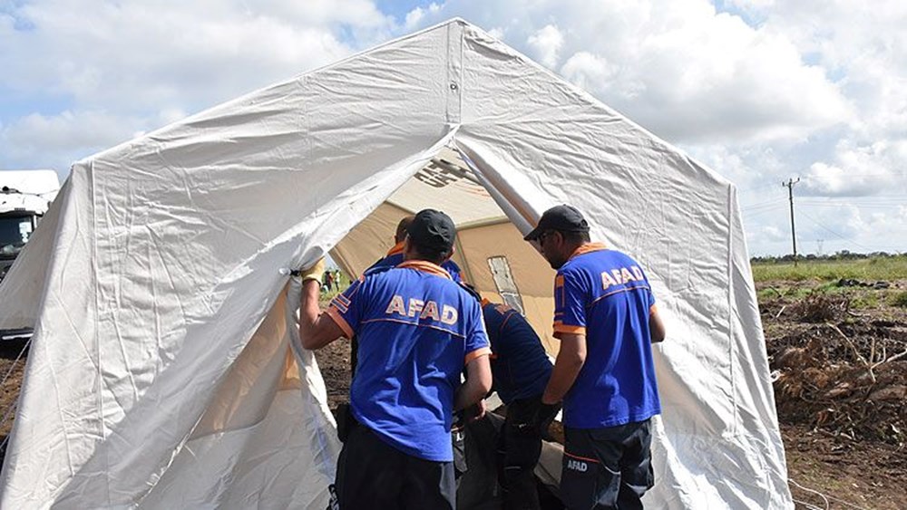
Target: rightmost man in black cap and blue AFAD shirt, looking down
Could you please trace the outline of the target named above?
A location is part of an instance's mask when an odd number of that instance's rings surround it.
[[[665,327],[642,266],[590,242],[580,211],[545,211],[525,237],[557,270],[561,350],[541,401],[563,400],[561,499],[568,508],[642,508],[655,483],[651,417],[661,412],[652,343]]]

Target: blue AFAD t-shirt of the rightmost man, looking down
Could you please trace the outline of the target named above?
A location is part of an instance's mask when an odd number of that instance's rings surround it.
[[[554,332],[586,335],[586,362],[564,396],[564,425],[615,427],[661,412],[649,313],[655,297],[639,264],[586,244],[554,280]]]

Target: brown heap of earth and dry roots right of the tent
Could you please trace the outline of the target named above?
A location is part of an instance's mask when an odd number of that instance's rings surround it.
[[[907,318],[873,319],[851,312],[845,297],[811,294],[765,306],[763,322],[785,422],[907,442]]]

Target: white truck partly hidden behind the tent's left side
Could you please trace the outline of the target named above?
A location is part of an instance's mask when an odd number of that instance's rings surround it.
[[[60,190],[54,170],[0,170],[0,280]],[[0,340],[29,335],[0,331]]]

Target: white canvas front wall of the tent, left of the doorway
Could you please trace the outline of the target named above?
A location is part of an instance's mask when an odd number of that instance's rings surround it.
[[[450,140],[446,63],[418,57],[447,43],[386,45],[73,167],[46,273],[14,274],[46,274],[47,292],[0,506],[135,505],[182,479],[174,459],[278,270],[327,253]]]

